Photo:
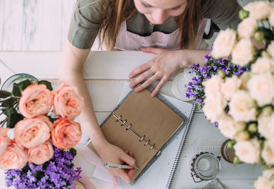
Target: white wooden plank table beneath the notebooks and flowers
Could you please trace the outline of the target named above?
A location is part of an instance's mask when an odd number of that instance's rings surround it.
[[[29,73],[38,79],[47,79],[57,88],[60,83],[57,68],[60,62],[60,51],[0,51],[0,77],[3,81],[14,73]],[[153,55],[142,52],[91,52],[85,65],[84,79],[91,94],[95,114],[99,123],[110,114],[118,103],[121,90],[128,74],[138,65],[153,58]],[[162,92],[171,93],[171,82],[162,88]],[[88,136],[83,131],[78,146],[86,144]],[[190,134],[182,153],[181,160],[173,181],[172,188],[201,188],[205,181],[195,184],[190,177],[190,159],[201,151],[221,155],[221,144],[226,140],[219,129],[211,125],[203,113],[195,114]],[[75,158],[75,165],[81,166],[85,175],[97,188],[111,188],[112,184],[92,177],[94,166],[82,159]],[[221,160],[221,171],[217,178],[225,188],[253,188],[253,179],[261,175],[260,166],[250,164],[229,164]],[[5,188],[3,172],[0,177],[0,188]]]

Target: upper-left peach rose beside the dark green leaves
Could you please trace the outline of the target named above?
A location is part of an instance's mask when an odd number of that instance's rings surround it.
[[[26,118],[33,118],[38,115],[45,115],[52,105],[51,91],[47,86],[32,84],[22,92],[19,101],[19,111]]]

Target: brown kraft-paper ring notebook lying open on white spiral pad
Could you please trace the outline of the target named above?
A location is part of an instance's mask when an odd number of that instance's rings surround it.
[[[186,116],[162,95],[153,98],[150,95],[148,89],[138,93],[132,90],[100,125],[110,143],[134,152],[139,169],[131,182],[149,168],[175,132],[187,122]],[[88,147],[95,150],[91,142]]]

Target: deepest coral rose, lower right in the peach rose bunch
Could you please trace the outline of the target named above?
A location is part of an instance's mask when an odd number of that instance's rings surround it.
[[[71,149],[81,139],[82,131],[79,123],[60,118],[53,123],[51,139],[59,149]]]

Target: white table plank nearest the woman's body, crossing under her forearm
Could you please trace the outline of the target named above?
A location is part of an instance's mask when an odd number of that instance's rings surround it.
[[[61,51],[0,51],[0,58],[16,73],[57,79],[56,69],[60,64],[61,54]],[[153,57],[153,54],[141,51],[92,51],[86,60],[84,78],[129,79],[128,75],[134,68]]]

